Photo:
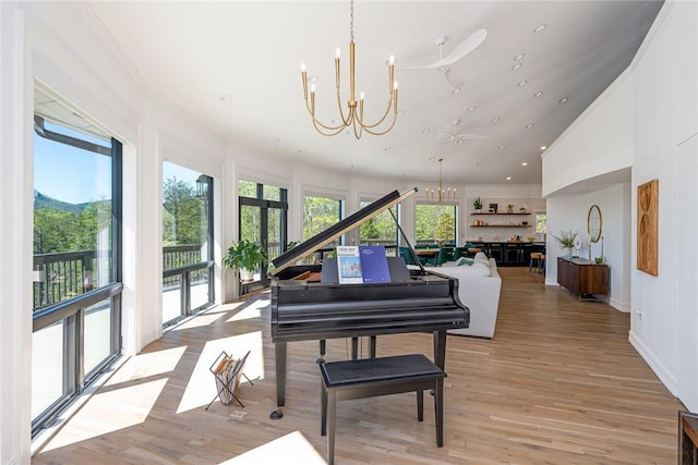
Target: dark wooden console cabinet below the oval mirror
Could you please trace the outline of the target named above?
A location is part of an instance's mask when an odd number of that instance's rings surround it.
[[[586,258],[557,257],[557,283],[582,298],[609,294],[609,267]]]

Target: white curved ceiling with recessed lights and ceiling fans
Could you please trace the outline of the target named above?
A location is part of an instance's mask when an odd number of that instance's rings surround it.
[[[300,74],[304,62],[309,76],[317,76],[318,118],[338,118],[334,53],[342,50],[346,105],[349,1],[86,4],[148,86],[237,145],[410,182],[435,181],[443,158],[444,182],[458,184],[501,184],[507,176],[539,184],[541,146],[627,68],[661,8],[658,1],[357,0],[357,93],[366,93],[366,119],[384,111],[389,54],[398,60],[401,111],[390,133],[357,140],[315,132]],[[465,81],[459,94],[440,71],[399,69],[436,61],[438,37],[448,38],[447,54],[479,28],[488,30],[485,41],[452,65]],[[460,133],[489,137],[444,144],[454,120],[461,120]]]

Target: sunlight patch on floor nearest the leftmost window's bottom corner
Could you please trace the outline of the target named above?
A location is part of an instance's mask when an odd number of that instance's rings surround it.
[[[167,381],[168,378],[163,378],[93,395],[49,441],[44,451],[63,448],[142,424]],[[115,405],[119,405],[119,408],[115,408]]]

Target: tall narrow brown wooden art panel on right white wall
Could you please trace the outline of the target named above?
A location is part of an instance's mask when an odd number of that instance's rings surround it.
[[[637,269],[659,273],[659,180],[637,186]]]

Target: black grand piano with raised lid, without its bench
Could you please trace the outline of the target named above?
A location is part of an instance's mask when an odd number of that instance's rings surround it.
[[[270,418],[284,416],[288,342],[320,341],[322,359],[326,339],[352,338],[356,358],[359,336],[371,336],[369,354],[375,356],[376,335],[433,332],[434,364],[444,368],[446,331],[468,328],[470,322],[469,309],[458,299],[457,279],[421,266],[408,269],[400,257],[388,257],[390,282],[383,283],[339,284],[335,259],[325,259],[322,265],[294,265],[416,192],[394,191],[272,260],[270,332],[277,411]]]

